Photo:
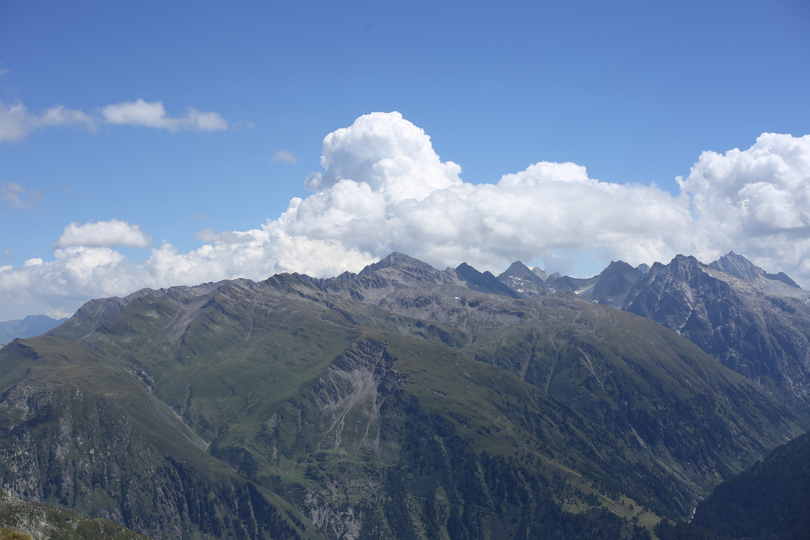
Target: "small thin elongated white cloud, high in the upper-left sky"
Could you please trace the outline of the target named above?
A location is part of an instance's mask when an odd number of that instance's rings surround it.
[[[126,101],[102,107],[100,113],[109,124],[139,125],[168,131],[228,129],[228,122],[220,113],[203,113],[196,108],[189,108],[181,117],[169,117],[162,101]]]

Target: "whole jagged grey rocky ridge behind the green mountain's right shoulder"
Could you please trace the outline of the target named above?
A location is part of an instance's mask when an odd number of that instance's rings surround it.
[[[527,273],[518,261],[498,279],[509,285]],[[678,255],[648,269],[613,261],[592,278],[548,277],[534,290],[564,288],[657,321],[773,391],[810,395],[810,292],[783,273],[769,274],[734,252],[709,265]]]

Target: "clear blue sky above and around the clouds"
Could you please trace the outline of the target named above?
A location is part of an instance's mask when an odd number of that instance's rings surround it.
[[[180,253],[205,243],[201,229],[258,227],[311,193],[326,134],[377,111],[402,113],[475,185],[571,161],[678,195],[703,151],[810,133],[798,1],[2,2],[0,62],[6,105],[96,118],[0,142],[0,184],[41,195],[0,209],[0,266],[15,270],[53,260],[72,222],[120,219]],[[228,129],[98,121],[139,99]],[[295,163],[271,161],[282,150]],[[598,246],[569,253],[573,273],[609,261]]]

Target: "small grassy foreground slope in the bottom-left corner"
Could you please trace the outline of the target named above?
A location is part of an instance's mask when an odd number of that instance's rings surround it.
[[[2,540],[151,540],[114,521],[19,500],[5,490],[0,490],[0,527]]]

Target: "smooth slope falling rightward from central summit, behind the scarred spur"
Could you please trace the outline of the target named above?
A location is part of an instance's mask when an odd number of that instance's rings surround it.
[[[425,338],[439,336],[547,390],[649,449],[698,491],[808,425],[806,410],[783,405],[654,321],[570,292],[513,300],[437,284],[392,287],[407,277],[392,267],[383,272],[386,285],[355,283],[355,296],[369,299],[387,287],[377,306],[424,319],[418,332]],[[437,330],[426,332],[428,325]],[[399,330],[418,333],[413,325]]]

